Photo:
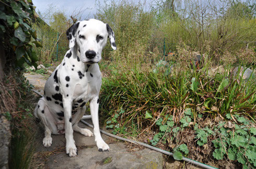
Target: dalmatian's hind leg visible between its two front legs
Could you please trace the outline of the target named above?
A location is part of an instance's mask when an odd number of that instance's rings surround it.
[[[75,118],[77,119],[74,118],[75,123],[73,124],[73,129],[78,133],[91,137],[94,136],[94,134],[91,131],[89,131],[89,129],[78,127],[78,122],[82,119],[85,110],[86,108],[82,108],[77,111],[78,114],[75,116]]]

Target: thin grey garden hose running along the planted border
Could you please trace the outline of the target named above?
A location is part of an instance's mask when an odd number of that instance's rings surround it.
[[[90,115],[86,115],[84,116],[82,119],[89,119],[90,118]],[[80,120],[80,122],[88,125],[89,127],[91,128],[94,128],[94,126],[92,126],[91,124],[85,122],[84,120]],[[120,140],[123,140],[123,141],[127,141],[127,142],[132,142],[133,144],[135,145],[140,145],[140,146],[144,146],[146,148],[149,148],[149,149],[152,149],[152,150],[155,150],[155,151],[158,151],[160,153],[163,153],[163,154],[166,154],[166,155],[170,155],[171,157],[173,156],[173,153],[169,152],[169,151],[165,151],[165,150],[162,150],[162,149],[159,149],[157,147],[153,147],[153,146],[149,146],[143,142],[139,142],[139,141],[135,141],[135,140],[131,140],[131,139],[127,139],[127,138],[122,138],[122,137],[119,137],[119,136],[116,136],[116,135],[113,135],[113,134],[110,134],[108,132],[105,132],[105,131],[102,131],[102,129],[100,129],[100,132],[103,133],[103,134],[106,134],[110,137],[114,137],[114,138],[117,138],[117,139],[120,139]],[[191,163],[191,164],[194,164],[194,165],[197,165],[197,166],[201,166],[203,168],[207,168],[207,169],[213,169],[215,167],[213,166],[210,166],[210,165],[207,165],[207,164],[203,164],[203,163],[200,163],[198,161],[194,161],[194,160],[191,160],[191,159],[188,159],[188,158],[185,158],[185,157],[182,157],[182,160],[185,161],[185,162],[188,162],[188,163]],[[216,169],[216,168],[215,168]]]

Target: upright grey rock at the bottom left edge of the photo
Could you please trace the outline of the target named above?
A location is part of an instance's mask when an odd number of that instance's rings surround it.
[[[9,154],[9,143],[10,143],[10,123],[3,116],[0,115],[0,168],[8,168],[8,154]]]

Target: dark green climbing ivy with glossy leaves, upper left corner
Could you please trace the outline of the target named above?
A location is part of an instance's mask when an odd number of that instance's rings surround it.
[[[16,68],[28,63],[37,68],[38,58],[33,47],[42,47],[31,22],[36,17],[31,0],[0,1],[0,40],[7,60],[14,60]]]

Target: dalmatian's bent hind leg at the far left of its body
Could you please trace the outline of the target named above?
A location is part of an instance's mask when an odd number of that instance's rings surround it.
[[[44,138],[43,138],[43,146],[49,148],[52,145],[52,137],[51,137],[51,129],[49,128],[48,122],[46,120],[45,112],[49,111],[49,109],[45,105],[44,99],[40,99],[37,104],[37,108],[34,112],[35,116],[39,118],[44,125]],[[47,112],[46,112],[47,113]]]

